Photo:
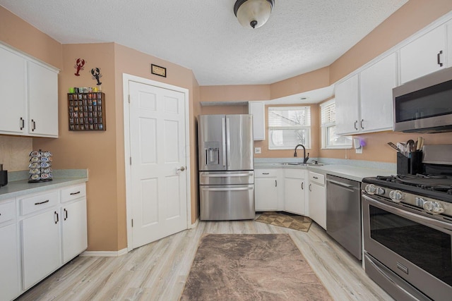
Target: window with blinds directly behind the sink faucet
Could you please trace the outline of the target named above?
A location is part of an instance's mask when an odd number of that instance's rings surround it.
[[[311,108],[275,106],[268,108],[268,149],[311,148]]]

